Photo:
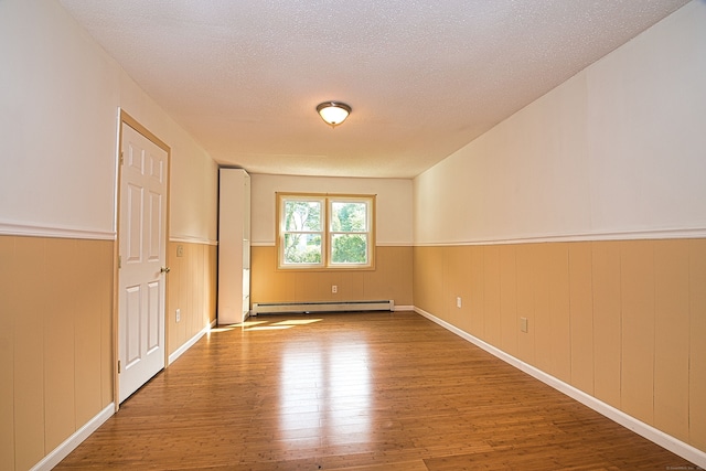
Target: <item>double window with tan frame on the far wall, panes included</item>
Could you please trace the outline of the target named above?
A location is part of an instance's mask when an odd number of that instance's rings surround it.
[[[374,195],[277,193],[279,268],[373,268],[374,216]]]

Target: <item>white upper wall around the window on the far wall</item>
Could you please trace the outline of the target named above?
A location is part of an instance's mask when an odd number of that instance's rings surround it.
[[[377,245],[411,245],[411,180],[250,175],[252,243],[275,245],[276,192],[376,194]]]

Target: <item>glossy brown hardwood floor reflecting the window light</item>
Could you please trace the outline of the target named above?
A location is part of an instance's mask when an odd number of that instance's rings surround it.
[[[696,469],[395,312],[261,315],[216,329],[56,469],[670,468]]]

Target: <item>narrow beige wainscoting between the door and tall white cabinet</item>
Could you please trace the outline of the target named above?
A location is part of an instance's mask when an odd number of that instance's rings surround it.
[[[216,319],[217,254],[213,244],[169,243],[167,338],[170,355]]]

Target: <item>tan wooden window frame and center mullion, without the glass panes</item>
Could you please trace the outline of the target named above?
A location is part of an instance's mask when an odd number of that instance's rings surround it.
[[[296,192],[276,192],[276,248],[277,248],[277,269],[284,271],[360,271],[375,269],[375,225],[376,225],[376,196],[375,194],[350,194],[350,193],[296,193]],[[284,237],[288,233],[284,231],[284,205],[288,200],[298,201],[321,201],[322,202],[322,231],[321,231],[321,264],[284,264]],[[331,207],[333,202],[340,201],[359,201],[367,205],[367,232],[365,234],[368,239],[367,245],[367,264],[333,264],[332,257],[332,235],[349,234],[346,232],[331,231]],[[317,233],[319,234],[319,233]],[[356,233],[350,233],[356,234]]]

